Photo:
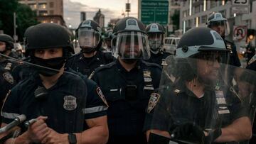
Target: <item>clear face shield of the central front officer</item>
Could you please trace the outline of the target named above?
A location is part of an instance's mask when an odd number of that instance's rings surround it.
[[[144,59],[150,57],[146,34],[137,31],[118,33],[112,40],[114,57],[121,59]]]

